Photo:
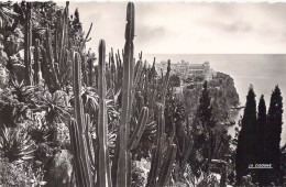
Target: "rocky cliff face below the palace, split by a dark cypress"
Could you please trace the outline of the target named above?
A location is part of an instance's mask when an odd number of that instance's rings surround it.
[[[184,98],[188,116],[190,119],[194,119],[201,96],[202,84],[197,82],[197,85],[188,88],[184,90]],[[218,73],[217,76],[209,81],[208,89],[210,91],[216,121],[221,124],[228,124],[233,121],[233,113],[230,112],[230,109],[240,105],[233,78],[227,74]]]

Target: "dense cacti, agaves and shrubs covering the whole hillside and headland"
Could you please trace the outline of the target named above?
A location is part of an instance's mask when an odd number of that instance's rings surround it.
[[[165,75],[142,53],[135,61],[133,3],[127,8],[124,50],[107,53],[101,40],[97,58],[86,51],[92,23],[85,33],[78,10],[70,15],[68,6],[0,4],[0,185],[234,185],[235,140],[223,127],[229,108],[239,105],[233,79],[219,73],[209,82],[183,80],[199,84],[182,101],[173,94],[180,79],[169,75],[169,61]],[[263,160],[271,158],[276,172],[253,175],[242,165],[238,183],[249,174],[276,183],[283,175],[280,92],[276,87],[267,117],[261,99],[257,119],[254,92],[249,99],[237,163],[248,160],[240,150],[249,153],[263,141],[265,148],[250,155],[268,155]]]

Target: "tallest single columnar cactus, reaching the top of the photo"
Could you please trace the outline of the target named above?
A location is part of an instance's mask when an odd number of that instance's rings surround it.
[[[127,26],[125,26],[125,46],[123,59],[123,80],[122,80],[122,110],[119,128],[119,160],[117,172],[117,186],[129,185],[129,165],[130,150],[128,148],[130,135],[130,116],[131,116],[131,89],[132,89],[132,67],[133,67],[133,38],[134,38],[134,4],[128,3]]]

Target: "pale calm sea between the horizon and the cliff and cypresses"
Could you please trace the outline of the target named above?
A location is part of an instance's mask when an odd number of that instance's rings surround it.
[[[256,94],[256,103],[263,94],[268,108],[272,90],[278,85],[283,94],[284,110],[286,109],[286,55],[148,54],[144,56],[148,62],[153,62],[153,57],[156,57],[156,62],[167,59],[173,63],[182,59],[189,63],[209,62],[213,70],[226,73],[234,79],[242,106],[245,105],[248,90],[252,84]],[[234,133],[234,127],[229,129],[229,133]],[[285,143],[286,110],[284,112],[282,145]]]

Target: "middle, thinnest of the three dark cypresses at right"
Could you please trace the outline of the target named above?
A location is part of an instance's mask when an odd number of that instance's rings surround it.
[[[257,127],[256,127],[256,163],[257,164],[267,164],[266,161],[266,124],[267,124],[267,114],[264,96],[261,96],[258,103],[258,113],[257,113]],[[265,169],[257,169],[255,180],[260,185],[267,184],[267,173]]]

